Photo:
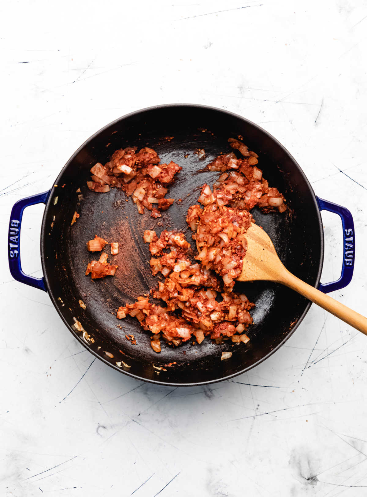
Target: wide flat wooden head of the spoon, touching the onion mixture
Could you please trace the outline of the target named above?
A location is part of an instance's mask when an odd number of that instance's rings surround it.
[[[285,267],[267,233],[252,223],[244,236],[247,240],[247,250],[237,281],[280,281]]]

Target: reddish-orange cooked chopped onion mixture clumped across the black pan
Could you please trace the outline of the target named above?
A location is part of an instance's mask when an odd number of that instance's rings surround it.
[[[163,230],[159,237],[152,230],[143,235],[152,255],[149,264],[153,275],[160,273],[164,281],[158,281],[149,296],[117,310],[117,318],[132,316],[142,328],[151,333],[151,347],[161,350],[161,339],[178,346],[192,339],[201,343],[205,337],[220,343],[248,342],[245,331],[252,324],[249,314],[254,304],[246,295],[233,291],[246,253],[246,230],[254,222],[250,210],[258,206],[265,212],[284,212],[284,196],[277,188],[269,187],[258,164],[258,156],[239,140],[229,138],[230,146],[242,154],[239,159],[231,152],[220,155],[207,166],[221,174],[211,188],[204,184],[198,198],[199,204],[189,207],[186,221],[192,230],[197,247],[191,247],[185,235],[178,231]],[[132,195],[139,213],[144,208],[151,216],[160,216],[174,199],[165,199],[167,186],[182,167],[170,162],[160,164],[152,149],[136,147],[116,151],[105,166],[96,164],[91,168],[92,181],[88,187],[97,192],[109,191],[118,186]],[[87,242],[91,252],[101,251],[107,242],[95,236]],[[116,251],[117,250],[117,251]],[[118,253],[118,243],[111,243],[111,254]],[[102,253],[99,260],[89,262],[86,273],[92,278],[114,275],[117,266],[107,262]],[[151,302],[150,297],[164,304]]]

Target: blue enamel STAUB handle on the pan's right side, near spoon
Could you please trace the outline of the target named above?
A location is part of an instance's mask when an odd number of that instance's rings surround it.
[[[340,278],[331,283],[320,283],[318,288],[324,293],[334,292],[349,285],[353,276],[354,259],[356,256],[356,238],[352,214],[341,205],[317,197],[320,211],[329,211],[338,214],[343,226],[343,265]]]

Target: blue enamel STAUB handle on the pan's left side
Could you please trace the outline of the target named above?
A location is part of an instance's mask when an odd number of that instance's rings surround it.
[[[34,278],[33,276],[24,274],[22,271],[20,264],[20,226],[24,209],[30,205],[46,204],[49,194],[50,191],[45,191],[38,195],[18,200],[11,209],[8,233],[8,258],[11,276],[21,283],[34,286],[45,292],[47,292],[47,289],[44,278]]]

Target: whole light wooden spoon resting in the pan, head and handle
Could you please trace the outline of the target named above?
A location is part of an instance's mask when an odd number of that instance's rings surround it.
[[[308,285],[284,267],[272,241],[262,228],[252,223],[244,235],[247,250],[237,281],[267,280],[282,283],[367,335],[367,319],[364,316]]]

